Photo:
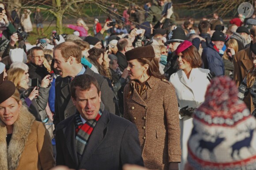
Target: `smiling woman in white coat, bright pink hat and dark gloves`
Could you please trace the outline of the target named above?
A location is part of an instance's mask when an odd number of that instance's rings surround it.
[[[169,79],[175,88],[179,104],[180,128],[181,128],[181,163],[179,170],[184,170],[187,162],[187,142],[193,127],[191,115],[203,101],[210,84],[207,79],[210,70],[201,69],[202,60],[196,47],[191,42],[185,40],[177,50],[177,62],[179,71],[172,74]]]

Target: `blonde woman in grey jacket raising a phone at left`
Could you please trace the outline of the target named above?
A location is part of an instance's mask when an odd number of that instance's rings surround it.
[[[25,69],[25,70],[24,70]],[[45,117],[41,115],[47,115],[45,108],[47,106],[49,90],[50,90],[50,75],[43,78],[39,87],[29,87],[29,73],[27,68],[13,68],[8,70],[7,80],[10,80],[15,84],[15,87],[19,90],[21,100],[27,105],[29,111],[35,116],[37,121],[42,121]]]

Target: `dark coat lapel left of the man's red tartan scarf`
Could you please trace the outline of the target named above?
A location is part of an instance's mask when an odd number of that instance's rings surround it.
[[[75,166],[78,167],[78,158],[75,149],[75,116],[69,125],[63,129],[63,134],[66,137],[68,152],[70,153]]]

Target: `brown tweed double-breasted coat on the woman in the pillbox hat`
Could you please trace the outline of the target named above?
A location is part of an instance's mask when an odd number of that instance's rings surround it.
[[[180,125],[175,89],[167,80],[151,76],[147,91],[139,96],[131,84],[124,88],[124,118],[135,123],[145,167],[167,170],[181,162]],[[127,98],[128,93],[132,94]]]

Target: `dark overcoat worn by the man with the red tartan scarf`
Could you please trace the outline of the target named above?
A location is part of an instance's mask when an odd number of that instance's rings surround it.
[[[104,110],[79,164],[75,149],[75,115],[56,128],[56,165],[72,169],[122,170],[125,163],[143,166],[136,126]]]

